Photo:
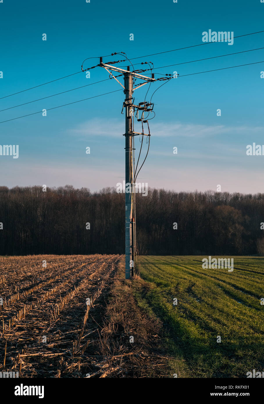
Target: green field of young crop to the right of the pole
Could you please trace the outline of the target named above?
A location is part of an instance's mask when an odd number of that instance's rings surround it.
[[[203,269],[203,258],[140,257],[145,282],[134,286],[137,304],[163,322],[177,377],[245,378],[263,371],[264,258],[232,257],[232,272]]]

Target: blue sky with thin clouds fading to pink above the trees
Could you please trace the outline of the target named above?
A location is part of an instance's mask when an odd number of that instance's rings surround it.
[[[131,9],[128,11],[128,5]],[[129,58],[200,44],[202,33],[239,36],[264,29],[264,3],[246,1],[10,1],[0,3],[0,97],[78,72],[88,57],[126,52]],[[42,41],[42,34],[47,36]],[[129,40],[129,34],[134,40]],[[135,60],[173,65],[264,46],[264,33]],[[107,60],[106,60],[107,59]],[[112,57],[104,59],[105,62]],[[264,156],[246,156],[263,141],[264,63],[184,76],[264,60],[264,49],[155,69],[173,79],[153,96],[151,143],[138,181],[176,191],[263,192]],[[98,63],[97,59],[91,59]],[[87,61],[89,62],[89,61]],[[94,63],[94,64],[95,64]],[[121,63],[120,65],[124,65]],[[88,67],[87,64],[85,67]],[[138,68],[138,67],[137,67]],[[0,99],[0,109],[108,78],[97,67]],[[184,76],[184,77],[181,77]],[[161,83],[154,83],[149,94]],[[114,80],[0,112],[0,121],[118,90]],[[144,101],[147,86],[135,91]],[[19,158],[0,156],[0,184],[115,186],[124,179],[124,94],[113,94],[0,124],[0,145],[19,145]],[[147,97],[148,100],[148,97]],[[217,116],[217,109],[221,116]],[[136,131],[140,127],[135,126]],[[136,152],[139,141],[136,139]],[[86,147],[91,154],[86,154]],[[178,154],[173,154],[173,147]],[[142,155],[147,145],[144,144]]]

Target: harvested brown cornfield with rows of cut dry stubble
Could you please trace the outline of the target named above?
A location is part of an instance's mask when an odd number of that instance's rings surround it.
[[[118,255],[0,257],[0,371],[19,377],[92,377]],[[93,350],[92,350],[93,351]]]

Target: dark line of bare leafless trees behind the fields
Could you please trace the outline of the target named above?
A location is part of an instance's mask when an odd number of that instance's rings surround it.
[[[123,254],[125,194],[116,188],[0,187],[0,255]],[[1,224],[2,223],[2,224]],[[88,223],[88,224],[87,224]],[[136,194],[141,255],[264,255],[264,194]]]

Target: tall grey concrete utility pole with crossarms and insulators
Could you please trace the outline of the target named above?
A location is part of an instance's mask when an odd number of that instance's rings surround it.
[[[114,55],[114,54],[113,54]],[[118,63],[118,62],[109,62]],[[154,74],[152,77],[142,76],[137,72],[130,72],[129,66],[127,70],[121,69],[110,64],[103,63],[103,58],[100,57],[100,64],[98,66],[104,67],[108,73],[114,78],[123,88],[125,93],[125,101],[123,103],[123,109],[125,108],[125,277],[130,279],[134,275],[134,260],[135,260],[135,184],[133,179],[133,137],[135,135],[150,136],[143,132],[134,132],[133,130],[133,116],[135,108],[137,111],[152,111],[151,103],[142,102],[139,105],[134,105],[132,95],[134,90],[144,86],[147,83],[156,81]],[[124,75],[124,86],[120,81],[112,74],[112,71],[119,72]],[[134,87],[136,78],[143,80],[143,83]],[[144,118],[137,119],[138,121],[144,121]]]

